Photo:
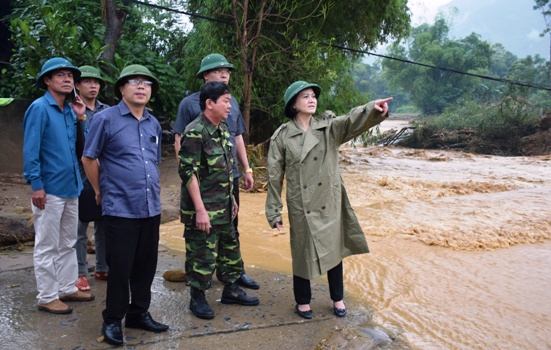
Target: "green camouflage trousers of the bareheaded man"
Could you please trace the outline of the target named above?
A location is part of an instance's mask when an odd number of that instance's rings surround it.
[[[233,224],[213,225],[210,232],[186,225],[186,279],[189,286],[205,290],[214,270],[224,284],[234,283],[241,276],[243,263]]]

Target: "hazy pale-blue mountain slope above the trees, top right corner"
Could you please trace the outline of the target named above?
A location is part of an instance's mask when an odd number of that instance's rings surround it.
[[[534,0],[452,0],[439,10],[451,17],[450,38],[464,38],[472,32],[482,40],[501,43],[519,58],[539,54],[549,60],[549,34],[540,37],[546,28],[541,12],[533,9]]]

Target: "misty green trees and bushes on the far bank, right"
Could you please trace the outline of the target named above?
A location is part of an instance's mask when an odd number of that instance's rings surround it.
[[[547,2],[546,2],[547,3]],[[412,31],[406,45],[394,45],[390,56],[508,79],[526,85],[549,86],[551,65],[545,59],[518,59],[501,44],[490,46],[475,33],[448,39],[448,25],[437,18]],[[454,143],[476,152],[516,154],[519,140],[533,133],[541,115],[550,110],[550,92],[528,86],[433,69],[395,60],[383,60],[390,88],[404,91],[426,116],[401,145],[434,148]]]

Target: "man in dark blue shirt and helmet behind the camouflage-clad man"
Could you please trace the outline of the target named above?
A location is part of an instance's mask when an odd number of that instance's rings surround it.
[[[229,63],[224,56],[213,53],[205,56],[201,61],[201,67],[197,72],[197,78],[202,78],[205,81],[205,84],[213,81],[221,82],[227,85],[230,81],[230,75],[233,69],[233,65]],[[191,123],[191,121],[193,121],[201,114],[201,107],[199,107],[199,93],[200,92],[197,91],[196,93],[184,98],[182,102],[180,102],[180,106],[178,107],[178,115],[176,116],[176,123],[174,125],[174,150],[176,151],[176,158],[178,158],[178,153],[180,152],[181,139],[182,135],[184,134],[184,129],[189,123]],[[247,151],[245,149],[245,142],[243,141],[243,134],[246,131],[245,121],[243,120],[243,115],[239,110],[239,103],[237,103],[235,97],[232,96],[230,102],[230,114],[228,118],[224,120],[224,123],[226,123],[230,131],[230,141],[235,146],[232,148],[232,155],[235,160],[233,163],[233,195],[235,201],[237,202],[237,205],[239,206],[239,177],[241,176],[241,174],[239,172],[238,165],[240,164],[244,170],[243,182],[245,184],[245,189],[252,189],[254,185],[254,180],[253,170],[249,167],[249,162],[247,160]],[[233,226],[235,236],[237,238],[237,244],[240,245],[238,216],[234,218]],[[237,283],[245,288],[259,289],[260,285],[246,274],[243,262],[241,263],[241,265],[243,271]],[[188,273],[187,266],[186,273]]]

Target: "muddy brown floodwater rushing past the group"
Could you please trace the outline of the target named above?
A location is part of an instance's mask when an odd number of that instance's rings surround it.
[[[345,259],[346,298],[376,324],[415,349],[551,349],[551,156],[344,146],[341,169],[371,249]],[[291,274],[265,198],[241,195],[245,264]]]

